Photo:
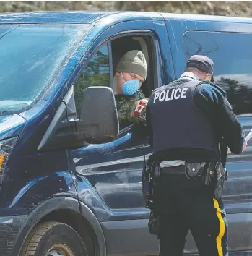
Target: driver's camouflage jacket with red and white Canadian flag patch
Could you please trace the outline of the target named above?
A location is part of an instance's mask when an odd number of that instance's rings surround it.
[[[146,105],[149,99],[145,98],[142,90],[130,96],[115,95],[115,98],[120,129],[142,121],[145,124]]]

